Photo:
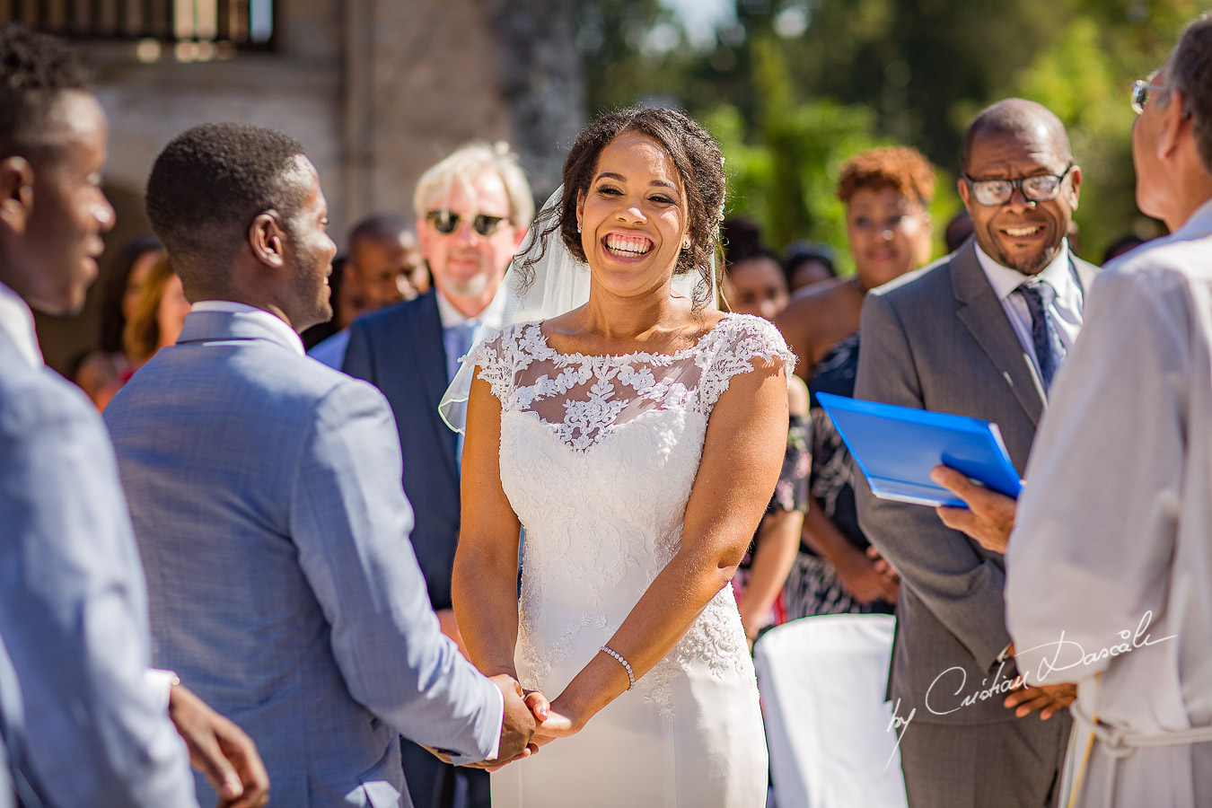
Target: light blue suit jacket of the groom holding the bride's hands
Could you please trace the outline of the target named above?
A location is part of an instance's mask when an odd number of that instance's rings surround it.
[[[398,735],[484,760],[501,695],[439,631],[387,401],[288,337],[191,313],[105,411],[154,660],[253,738],[274,804],[407,806]]]

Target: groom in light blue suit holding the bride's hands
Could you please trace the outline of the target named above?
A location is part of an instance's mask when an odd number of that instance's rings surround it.
[[[196,126],[147,207],[194,308],[105,422],[156,660],[252,735],[284,806],[411,804],[400,734],[456,763],[524,753],[518,683],[439,631],[387,401],[303,354],[336,246],[302,147]]]

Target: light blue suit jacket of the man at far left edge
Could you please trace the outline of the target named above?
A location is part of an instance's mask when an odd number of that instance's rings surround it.
[[[147,592],[105,430],[2,328],[0,643],[12,663],[0,701],[19,698],[0,721],[41,802],[198,804],[185,746],[144,678]]]

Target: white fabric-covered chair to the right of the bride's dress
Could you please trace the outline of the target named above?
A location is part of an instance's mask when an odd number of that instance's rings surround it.
[[[901,753],[884,700],[894,618],[830,614],[754,648],[778,808],[899,808]]]

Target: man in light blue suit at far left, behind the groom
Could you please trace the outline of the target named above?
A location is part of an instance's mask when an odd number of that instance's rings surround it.
[[[148,681],[113,449],[38,349],[30,306],[76,313],[97,275],[114,218],[104,160],[105,116],[76,55],[0,24],[0,806],[13,790],[27,807],[195,806],[187,746],[221,806],[262,806],[247,735],[171,676]]]

